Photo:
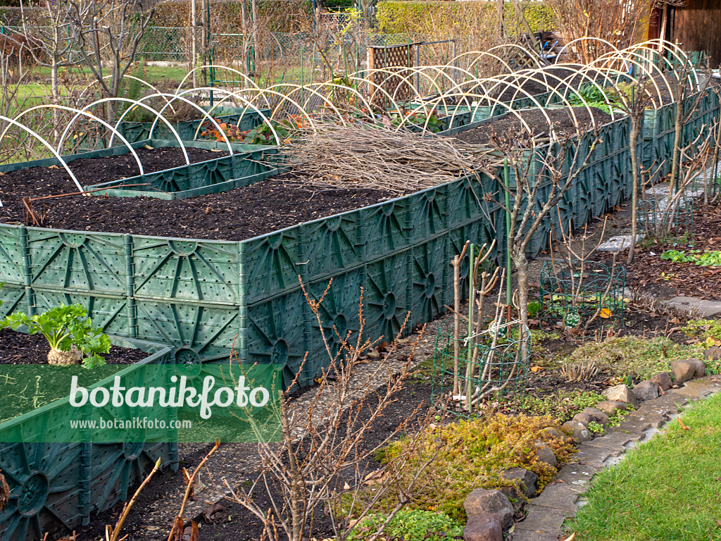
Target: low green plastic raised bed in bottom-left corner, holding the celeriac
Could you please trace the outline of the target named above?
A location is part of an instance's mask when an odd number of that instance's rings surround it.
[[[131,376],[138,366],[172,361],[172,348],[143,340],[111,337],[118,346],[151,353],[118,372]],[[177,444],[161,433],[145,433],[126,444],[27,443],[53,440],[76,408],[56,400],[30,413],[0,423],[0,472],[10,488],[9,502],[0,511],[0,539],[30,541],[67,535],[89,524],[99,513],[128,498],[157,459],[162,468],[177,469]],[[92,437],[89,438],[89,441]]]

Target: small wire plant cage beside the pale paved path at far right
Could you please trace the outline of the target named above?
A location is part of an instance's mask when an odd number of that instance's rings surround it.
[[[645,237],[691,236],[694,233],[694,200],[681,198],[678,203],[672,203],[671,208],[666,198],[639,201],[637,224],[638,231]]]

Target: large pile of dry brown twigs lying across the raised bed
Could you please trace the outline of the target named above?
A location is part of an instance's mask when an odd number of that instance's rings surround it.
[[[487,170],[490,151],[447,137],[322,123],[283,147],[287,164],[327,188],[409,193]]]

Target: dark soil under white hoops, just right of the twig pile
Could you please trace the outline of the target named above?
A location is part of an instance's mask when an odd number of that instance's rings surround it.
[[[603,126],[603,124],[611,122],[611,115],[609,115],[609,113],[596,109],[595,107],[591,107],[590,110],[593,113],[593,119],[596,120],[596,126]],[[573,107],[573,114],[578,121],[578,130],[567,108],[518,111],[521,118],[528,124],[528,128],[531,128],[531,136],[533,137],[549,136],[549,122],[542,111],[546,112],[553,123],[557,136],[572,136],[578,133],[578,131],[583,131],[587,128],[589,130],[593,129],[591,116],[585,107]],[[523,133],[524,137],[528,136],[526,126],[523,126],[521,120],[518,120],[518,116],[514,113],[508,113],[503,118],[482,124],[478,128],[461,131],[461,133],[456,134],[455,137],[466,143],[490,144],[493,133],[500,138],[509,137],[511,139],[515,139],[519,133]]]

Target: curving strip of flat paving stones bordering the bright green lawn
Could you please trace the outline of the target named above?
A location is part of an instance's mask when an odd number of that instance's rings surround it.
[[[513,541],[558,541],[565,519],[574,516],[583,505],[583,494],[593,475],[616,465],[624,452],[650,439],[684,405],[720,391],[717,377],[693,379],[684,387],[642,403],[622,423],[609,428],[605,436],[580,444],[576,461],[561,467],[541,495],[528,502],[528,515],[523,522],[516,522]]]

